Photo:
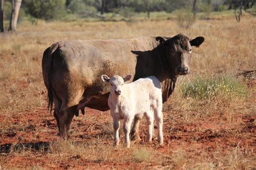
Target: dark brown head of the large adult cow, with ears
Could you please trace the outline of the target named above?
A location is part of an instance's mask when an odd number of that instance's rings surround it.
[[[204,42],[204,37],[190,39],[179,34],[170,39],[157,37],[157,40],[167,49],[172,72],[175,75],[185,75],[190,73],[192,46],[199,47]]]

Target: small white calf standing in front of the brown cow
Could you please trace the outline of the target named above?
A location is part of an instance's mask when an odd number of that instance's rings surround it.
[[[114,121],[114,145],[119,144],[119,120],[124,119],[125,146],[130,147],[130,129],[135,116],[143,116],[146,113],[147,139],[152,141],[154,117],[158,127],[158,142],[163,145],[163,114],[160,81],[154,77],[140,78],[133,83],[131,74],[125,78],[102,75],[104,82],[110,83],[110,96],[108,104]],[[153,113],[153,112],[154,113]]]

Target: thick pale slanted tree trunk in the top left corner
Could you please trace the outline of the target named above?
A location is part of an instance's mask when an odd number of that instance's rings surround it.
[[[21,8],[22,0],[12,0],[12,10],[11,10],[11,19],[10,19],[10,26],[9,31],[16,31],[17,30],[17,21],[19,17],[19,9]]]

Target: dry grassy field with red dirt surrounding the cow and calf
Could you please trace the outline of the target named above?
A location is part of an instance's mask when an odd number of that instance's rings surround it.
[[[190,29],[175,19],[154,17],[131,22],[24,21],[16,33],[0,34],[0,144],[45,142],[47,147],[13,148],[1,153],[0,169],[21,168],[165,168],[253,169],[255,155],[255,79],[234,75],[255,70],[256,18],[217,15]],[[142,141],[130,149],[112,147],[109,112],[88,109],[71,124],[71,137],[57,136],[53,115],[46,112],[43,51],[60,40],[123,39],[174,36],[205,42],[193,49],[191,74],[179,77],[164,105],[164,146]],[[121,139],[123,133],[121,132]],[[121,141],[123,142],[123,141]],[[35,144],[35,143],[34,143]]]

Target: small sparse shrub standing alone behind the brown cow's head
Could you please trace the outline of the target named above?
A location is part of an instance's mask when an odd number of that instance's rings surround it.
[[[196,22],[196,16],[193,15],[191,9],[180,9],[174,11],[177,16],[177,22],[182,28],[188,29]]]

